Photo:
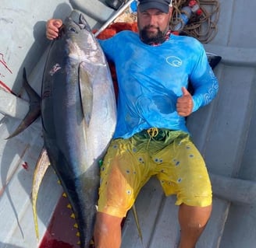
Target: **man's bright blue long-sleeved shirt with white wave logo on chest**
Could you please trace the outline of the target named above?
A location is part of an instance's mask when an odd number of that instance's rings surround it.
[[[158,46],[144,44],[137,33],[123,31],[99,40],[116,65],[119,86],[114,138],[129,138],[150,127],[187,131],[176,112],[176,100],[190,81],[194,108],[210,103],[219,84],[202,44],[192,37],[171,34]]]

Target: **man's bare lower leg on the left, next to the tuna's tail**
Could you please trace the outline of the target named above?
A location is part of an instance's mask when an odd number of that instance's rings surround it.
[[[121,246],[121,222],[123,218],[98,212],[94,227],[95,248],[119,248]]]

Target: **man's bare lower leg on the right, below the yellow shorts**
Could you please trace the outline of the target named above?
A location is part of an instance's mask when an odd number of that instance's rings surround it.
[[[208,207],[191,207],[180,205],[180,245],[179,248],[194,248],[210,218],[212,205]]]

